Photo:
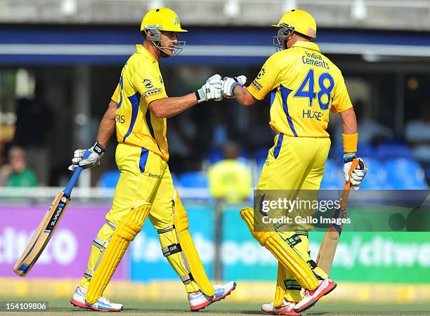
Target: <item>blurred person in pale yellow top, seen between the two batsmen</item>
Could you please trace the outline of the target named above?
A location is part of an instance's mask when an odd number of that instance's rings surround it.
[[[237,159],[240,149],[236,143],[226,143],[223,151],[226,159],[209,169],[209,189],[216,199],[237,204],[251,194],[252,174],[249,167]]]

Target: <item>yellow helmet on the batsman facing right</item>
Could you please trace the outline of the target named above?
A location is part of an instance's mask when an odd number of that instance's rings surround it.
[[[169,8],[153,8],[145,14],[141,23],[141,32],[153,28],[159,31],[188,32],[181,28],[178,15]]]

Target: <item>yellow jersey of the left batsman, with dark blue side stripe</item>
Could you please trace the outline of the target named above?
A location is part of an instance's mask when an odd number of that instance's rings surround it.
[[[117,103],[115,126],[118,143],[143,147],[169,160],[167,120],[155,117],[148,105],[167,98],[157,59],[142,45],[122,68],[112,96]]]

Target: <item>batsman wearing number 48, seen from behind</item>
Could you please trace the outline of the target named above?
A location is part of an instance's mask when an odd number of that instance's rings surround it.
[[[242,76],[224,78],[223,96],[235,97],[241,105],[252,105],[271,93],[270,126],[277,131],[261,171],[257,190],[318,190],[330,148],[327,133],[329,112],[343,121],[344,175],[358,190],[365,165],[348,176],[357,152],[357,122],[340,70],[320,53],[313,17],[301,10],[285,13],[271,55],[252,84],[242,86]],[[299,315],[329,294],[336,283],[311,260],[308,231],[261,232],[254,230],[261,210],[242,209],[240,215],[257,241],[278,259],[275,301],[262,310],[275,315]],[[304,288],[304,296],[300,290]]]

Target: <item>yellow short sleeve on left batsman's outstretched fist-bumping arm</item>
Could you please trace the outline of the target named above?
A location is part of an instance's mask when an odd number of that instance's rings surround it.
[[[133,85],[141,93],[146,104],[150,104],[154,100],[167,98],[162,77],[156,70],[148,69],[145,70],[145,74],[135,74]]]

